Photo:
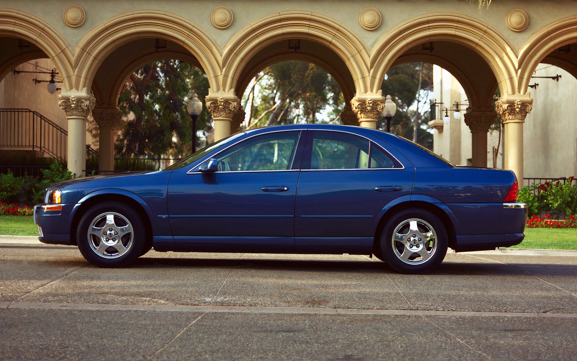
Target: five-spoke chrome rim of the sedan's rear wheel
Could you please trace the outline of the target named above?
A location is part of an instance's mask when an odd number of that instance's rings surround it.
[[[411,218],[395,228],[392,246],[397,258],[404,263],[421,265],[437,250],[437,235],[427,222]]]

